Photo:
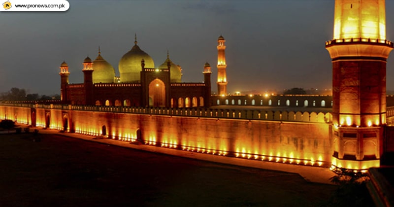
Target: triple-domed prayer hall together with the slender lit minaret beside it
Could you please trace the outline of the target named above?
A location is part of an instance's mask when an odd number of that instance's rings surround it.
[[[218,38],[219,73],[226,75],[225,39]],[[218,59],[219,60],[219,59]],[[120,77],[115,69],[99,55],[92,62],[87,57],[83,61],[84,82],[68,83],[68,65],[60,66],[61,101],[72,105],[105,106],[155,106],[155,107],[209,107],[211,97],[211,67],[203,66],[203,79],[197,83],[183,83],[182,68],[174,64],[167,52],[167,59],[155,68],[153,59],[137,44],[119,61]],[[226,78],[218,81],[222,93],[226,93]]]

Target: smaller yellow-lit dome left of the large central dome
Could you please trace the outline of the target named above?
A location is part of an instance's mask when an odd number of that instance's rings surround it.
[[[115,69],[99,55],[93,61],[93,83],[113,83],[115,79]]]

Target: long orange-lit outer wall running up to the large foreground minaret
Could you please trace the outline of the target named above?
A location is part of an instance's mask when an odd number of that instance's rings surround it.
[[[105,131],[104,137],[134,141],[140,134],[145,144],[214,155],[313,166],[329,166],[331,162],[331,125],[327,123],[144,114],[147,108],[139,108],[141,113],[106,109],[113,112],[71,110],[71,106],[62,105],[34,107],[36,125],[49,124],[51,129],[63,130],[67,120],[68,131],[92,136]],[[0,106],[1,117],[16,111],[26,117],[31,108]]]

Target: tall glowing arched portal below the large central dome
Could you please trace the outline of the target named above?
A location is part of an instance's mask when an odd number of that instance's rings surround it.
[[[150,106],[165,106],[165,85],[159,78],[149,83],[149,99],[152,99]]]

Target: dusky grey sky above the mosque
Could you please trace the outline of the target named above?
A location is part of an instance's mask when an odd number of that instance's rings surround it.
[[[59,94],[59,66],[82,83],[82,62],[102,57],[115,69],[137,34],[160,66],[170,59],[183,82],[203,81],[212,66],[216,91],[217,38],[226,39],[228,92],[331,87],[325,41],[332,38],[333,0],[69,0],[66,12],[0,12],[0,92]],[[387,39],[394,40],[394,1],[386,0]],[[394,90],[394,55],[387,66]]]

